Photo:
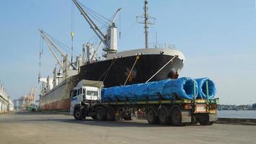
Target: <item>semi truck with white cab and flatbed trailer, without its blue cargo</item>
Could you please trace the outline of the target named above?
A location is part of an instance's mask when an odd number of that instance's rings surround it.
[[[102,81],[81,80],[71,91],[70,114],[76,120],[85,120],[92,117],[93,120],[131,120],[136,111],[145,113],[149,124],[161,125],[213,125],[217,120],[217,104],[219,99],[182,99],[173,96],[174,99],[130,101],[120,102],[118,99],[112,102],[102,101]]]

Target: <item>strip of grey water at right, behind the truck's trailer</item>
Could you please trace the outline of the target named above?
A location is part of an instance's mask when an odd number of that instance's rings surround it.
[[[256,119],[256,110],[221,110],[217,112],[218,117],[223,118],[247,118]]]

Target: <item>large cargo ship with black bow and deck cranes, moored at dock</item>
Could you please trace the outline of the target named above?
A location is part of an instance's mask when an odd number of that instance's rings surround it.
[[[115,27],[115,18],[120,9],[110,20],[107,32],[102,32],[90,17],[89,11],[84,9],[85,6],[82,6],[77,0],[73,0],[73,2],[100,39],[99,45],[102,45],[104,58],[97,59],[97,53],[95,53],[97,50],[94,50],[92,44],[87,43],[87,45],[83,45],[82,57],[76,58],[76,62],[72,63],[69,61],[69,56],[61,52],[61,48],[53,42],[49,35],[40,30],[41,36],[60,67],[58,70],[54,68],[53,78],[49,76],[41,78],[39,75],[39,81],[42,84],[40,93],[42,109],[69,109],[70,91],[81,79],[103,81],[105,87],[111,87],[178,78],[185,56],[175,48],[163,47],[163,45],[149,47],[148,1],[144,1],[144,20],[141,22],[145,28],[145,48],[122,52],[118,52],[118,32]],[[58,60],[56,52],[61,54],[63,60]]]

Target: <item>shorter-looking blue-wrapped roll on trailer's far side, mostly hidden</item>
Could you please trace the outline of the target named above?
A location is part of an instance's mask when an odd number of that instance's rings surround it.
[[[213,81],[209,78],[196,78],[195,81],[198,83],[198,97],[200,99],[213,99],[216,94],[216,87]],[[208,96],[206,91],[206,81],[208,81]]]

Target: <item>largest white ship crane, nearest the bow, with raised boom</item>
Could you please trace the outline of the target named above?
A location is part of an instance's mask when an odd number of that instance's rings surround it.
[[[82,8],[81,4],[77,0],[73,0],[76,7],[81,12],[81,15],[84,17],[84,19],[87,20],[89,26],[92,28],[94,33],[97,35],[97,37],[100,38],[101,42],[105,45],[105,48],[103,49],[107,53],[115,53],[118,51],[118,41],[117,41],[117,29],[115,27],[115,18],[117,17],[118,13],[120,12],[120,9],[118,9],[115,12],[115,16],[113,17],[112,21],[110,22],[107,33],[105,34],[100,30],[100,28],[93,22],[93,20],[89,17],[89,14]],[[100,44],[101,45],[101,44]]]

